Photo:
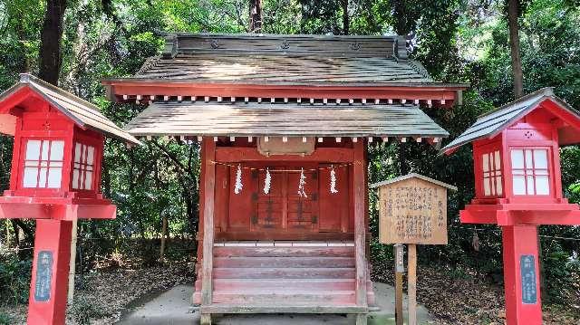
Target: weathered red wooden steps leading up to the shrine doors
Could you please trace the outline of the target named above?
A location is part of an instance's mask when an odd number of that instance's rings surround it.
[[[321,309],[312,312],[365,312],[355,305],[355,273],[354,247],[348,245],[215,246],[213,303],[202,309],[292,312],[318,306]],[[374,303],[370,280],[367,299]],[[193,302],[201,302],[200,278]]]

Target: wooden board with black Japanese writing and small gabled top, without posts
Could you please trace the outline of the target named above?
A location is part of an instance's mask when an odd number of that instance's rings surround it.
[[[382,244],[447,244],[447,189],[429,177],[410,174],[377,183]]]

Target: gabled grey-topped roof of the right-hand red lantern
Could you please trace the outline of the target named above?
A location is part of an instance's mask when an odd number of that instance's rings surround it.
[[[497,136],[502,130],[516,122],[518,119],[523,118],[532,110],[536,110],[538,107],[545,104],[546,101],[556,104],[556,106],[549,107],[552,113],[555,113],[560,117],[564,117],[565,115],[565,117],[568,119],[566,121],[575,121],[576,126],[580,126],[580,115],[578,112],[570,105],[568,105],[564,100],[558,99],[554,95],[552,88],[543,88],[539,91],[527,94],[518,100],[507,103],[506,105],[501,106],[496,110],[491,110],[488,113],[479,116],[476,122],[471,125],[469,129],[466,129],[465,132],[463,132],[457,139],[451,141],[447,146],[441,148],[440,152],[450,154],[455,149],[469,142],[473,142],[478,139],[491,139]],[[563,112],[564,115],[560,114],[558,110]],[[560,131],[560,144],[572,144],[580,141],[578,136],[569,134],[569,129],[563,128]]]

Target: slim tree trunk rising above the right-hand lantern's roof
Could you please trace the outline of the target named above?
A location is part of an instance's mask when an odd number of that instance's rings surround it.
[[[517,17],[519,8],[518,0],[507,1],[507,21],[509,24],[509,46],[511,48],[511,71],[514,75],[514,96],[516,99],[524,94],[524,76],[522,73],[522,60],[519,53],[519,27]]]

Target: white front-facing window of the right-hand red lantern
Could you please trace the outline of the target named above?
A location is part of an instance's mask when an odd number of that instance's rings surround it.
[[[513,148],[511,167],[514,195],[547,196],[550,194],[547,148]]]

